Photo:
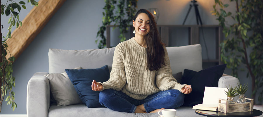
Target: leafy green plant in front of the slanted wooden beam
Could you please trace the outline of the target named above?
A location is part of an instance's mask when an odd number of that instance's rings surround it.
[[[34,0],[27,0],[27,3],[31,3],[34,6],[38,6],[38,3]],[[1,80],[0,80],[0,84],[1,84],[1,91],[0,91],[0,112],[2,110],[2,103],[4,100],[4,97],[6,95],[8,95],[6,97],[5,101],[8,101],[7,104],[12,104],[11,108],[13,108],[13,111],[15,109],[15,107],[17,107],[16,103],[15,103],[15,92],[12,91],[12,87],[15,87],[15,77],[12,76],[12,72],[13,72],[13,61],[15,61],[15,57],[11,56],[10,58],[6,58],[8,49],[8,44],[7,44],[7,39],[11,38],[11,30],[12,27],[15,26],[16,28],[18,28],[18,26],[22,26],[22,22],[19,20],[19,13],[21,10],[21,6],[22,8],[26,9],[25,6],[25,2],[20,1],[20,2],[15,2],[12,0],[7,0],[6,3],[1,3],[1,17],[2,15],[6,15],[9,16],[10,18],[8,20],[8,32],[6,34],[6,37],[4,37],[2,35],[2,33],[0,33],[0,37],[2,37],[1,42],[2,44],[0,45],[0,76],[1,76]],[[21,5],[21,6],[20,6]],[[15,11],[15,9],[18,11]],[[1,25],[1,17],[0,17],[0,25]],[[1,25],[0,28],[0,32],[2,32],[2,28],[4,29],[3,25]]]

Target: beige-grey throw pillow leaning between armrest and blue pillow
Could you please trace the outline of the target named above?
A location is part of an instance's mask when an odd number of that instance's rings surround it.
[[[74,69],[82,69],[77,67]],[[66,72],[44,75],[49,79],[50,90],[57,106],[83,104]]]

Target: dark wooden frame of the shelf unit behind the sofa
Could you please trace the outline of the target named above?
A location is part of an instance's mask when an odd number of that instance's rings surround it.
[[[114,27],[114,25],[108,25],[106,27],[106,46],[107,48],[110,47],[110,27]],[[157,25],[158,31],[160,33],[160,36],[162,38],[162,41],[169,46],[169,29],[172,28],[188,28],[188,45],[193,45],[193,44],[199,44],[200,39],[199,39],[199,30],[201,25]],[[220,61],[220,50],[221,48],[219,47],[219,44],[223,40],[223,33],[222,33],[222,27],[219,25],[203,25],[203,28],[215,28],[215,41],[216,41],[216,59],[203,59],[203,63],[217,63],[217,64],[222,64]],[[130,29],[133,29],[133,26],[130,26]],[[131,37],[134,37],[135,34],[131,32]]]

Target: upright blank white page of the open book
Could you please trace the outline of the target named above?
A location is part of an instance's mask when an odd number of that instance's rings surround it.
[[[225,90],[227,91],[227,88],[205,87],[203,104],[217,104],[218,105],[219,98],[227,99]]]

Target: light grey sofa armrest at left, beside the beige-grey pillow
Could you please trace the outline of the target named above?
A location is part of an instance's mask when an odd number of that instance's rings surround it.
[[[48,117],[50,88],[45,74],[37,72],[27,83],[27,117]]]

